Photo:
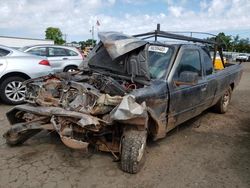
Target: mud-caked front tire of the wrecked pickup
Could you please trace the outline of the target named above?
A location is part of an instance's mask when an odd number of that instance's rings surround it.
[[[145,147],[147,131],[130,130],[127,131],[122,139],[121,168],[123,171],[135,174],[145,158]]]

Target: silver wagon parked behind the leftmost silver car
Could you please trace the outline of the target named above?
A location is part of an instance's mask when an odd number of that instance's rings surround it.
[[[60,45],[35,45],[20,49],[33,55],[45,56],[54,72],[71,72],[83,62],[82,53],[75,47]]]

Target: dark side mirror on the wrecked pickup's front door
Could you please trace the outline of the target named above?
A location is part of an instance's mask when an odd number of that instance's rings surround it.
[[[197,72],[183,71],[180,73],[178,80],[175,80],[174,83],[177,86],[180,85],[194,85],[198,83],[199,75]]]

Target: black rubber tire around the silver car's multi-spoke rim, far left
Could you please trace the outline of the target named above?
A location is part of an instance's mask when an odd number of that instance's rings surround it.
[[[7,89],[6,87],[8,84],[11,82],[23,82],[25,81],[24,78],[19,77],[19,76],[13,76],[6,78],[1,84],[0,84],[0,98],[4,103],[7,104],[12,104],[12,105],[17,105],[17,104],[22,104],[24,102],[24,98],[22,100],[11,100],[9,97],[7,97],[5,90]]]

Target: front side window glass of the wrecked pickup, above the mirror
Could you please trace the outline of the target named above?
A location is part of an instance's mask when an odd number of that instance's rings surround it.
[[[177,75],[175,75],[175,77],[179,77],[184,71],[196,72],[200,77],[202,76],[200,54],[198,50],[184,51],[176,71]]]

